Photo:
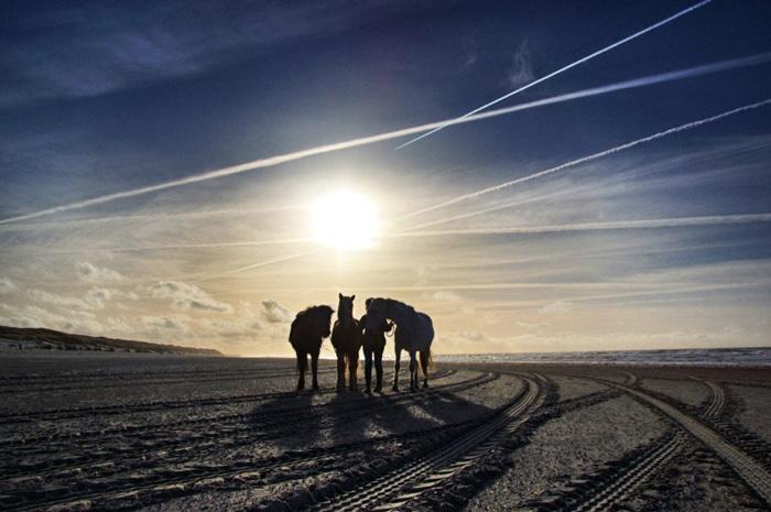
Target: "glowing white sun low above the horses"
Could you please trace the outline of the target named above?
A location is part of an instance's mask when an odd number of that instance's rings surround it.
[[[372,247],[378,231],[374,203],[361,194],[337,190],[321,197],[311,209],[316,240],[338,250]]]

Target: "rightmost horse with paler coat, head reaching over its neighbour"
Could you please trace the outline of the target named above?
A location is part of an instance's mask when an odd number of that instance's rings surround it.
[[[417,389],[416,352],[421,355],[423,388],[428,388],[431,342],[434,340],[434,324],[431,317],[393,298],[368,298],[366,304],[366,329],[376,329],[387,319],[397,324],[397,331],[393,336],[397,356],[393,367],[393,391],[399,391],[399,367],[401,366],[402,349],[410,352],[410,391]]]

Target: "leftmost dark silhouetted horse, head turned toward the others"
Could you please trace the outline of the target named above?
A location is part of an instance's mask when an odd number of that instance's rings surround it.
[[[318,352],[322,341],[329,336],[332,314],[329,306],[311,306],[297,313],[290,328],[290,344],[297,356],[297,391],[305,389],[305,368],[307,357],[311,355],[311,369],[313,371],[313,389],[318,389]]]

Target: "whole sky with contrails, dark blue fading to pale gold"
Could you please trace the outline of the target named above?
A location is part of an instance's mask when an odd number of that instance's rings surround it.
[[[344,293],[437,353],[769,346],[771,3],[696,3],[3,2],[0,325],[289,356]]]

